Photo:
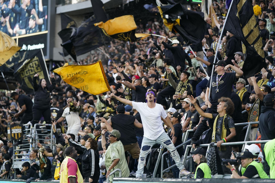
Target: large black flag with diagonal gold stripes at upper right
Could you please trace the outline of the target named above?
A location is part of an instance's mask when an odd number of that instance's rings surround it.
[[[251,1],[233,1],[225,29],[239,37],[245,45],[246,58],[242,71],[246,78],[255,75],[265,67],[262,38]],[[245,53],[244,50],[243,53]]]

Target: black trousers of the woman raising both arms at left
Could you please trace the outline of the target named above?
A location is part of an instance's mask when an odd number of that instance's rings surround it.
[[[43,106],[32,106],[32,124],[36,124],[40,121],[41,116],[44,117],[46,124],[50,124],[51,122],[51,109],[50,107],[43,107]]]

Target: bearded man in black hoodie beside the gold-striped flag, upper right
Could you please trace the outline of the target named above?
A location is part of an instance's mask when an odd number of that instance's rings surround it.
[[[226,40],[227,40],[227,48],[224,61],[226,64],[233,64],[232,60],[235,60],[235,54],[238,51],[241,51],[241,42],[237,37],[235,37],[232,33],[226,33]]]

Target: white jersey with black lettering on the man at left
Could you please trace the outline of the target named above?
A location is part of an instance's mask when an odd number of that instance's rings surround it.
[[[80,118],[78,112],[70,112],[70,108],[66,107],[63,111],[62,117],[66,118],[68,130],[80,128]]]

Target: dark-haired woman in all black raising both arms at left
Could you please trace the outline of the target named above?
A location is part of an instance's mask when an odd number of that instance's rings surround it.
[[[34,87],[34,105],[32,106],[32,124],[39,122],[43,115],[46,124],[51,122],[51,110],[50,110],[50,93],[55,88],[56,81],[54,79],[54,73],[50,74],[52,84],[47,86],[45,79],[40,79],[37,83],[36,79],[39,73],[34,75],[33,87]]]

